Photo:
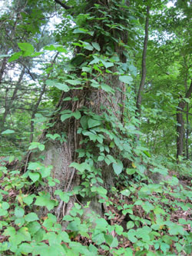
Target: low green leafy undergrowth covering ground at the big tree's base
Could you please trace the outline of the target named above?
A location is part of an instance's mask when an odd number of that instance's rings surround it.
[[[30,192],[35,180],[28,180],[20,171],[10,171],[2,165],[2,255],[191,254],[190,186],[187,182],[181,185],[176,176],[153,184],[136,170],[127,168],[127,181],[121,182],[124,177],[120,175],[117,188],[98,189],[103,218],[94,212],[82,218],[89,203],[83,206],[77,199],[70,214],[58,221],[52,214],[58,201],[48,192]],[[45,179],[50,182],[49,178]],[[54,187],[54,181],[51,182]],[[80,189],[74,188],[73,194],[61,191],[58,194],[67,202]],[[33,211],[34,205],[43,208],[46,214],[39,218],[39,209]]]

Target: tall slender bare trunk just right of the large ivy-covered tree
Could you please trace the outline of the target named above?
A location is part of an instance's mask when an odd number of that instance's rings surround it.
[[[139,85],[139,89],[137,92],[137,102],[136,102],[136,114],[138,117],[141,115],[141,93],[144,90],[144,83],[145,78],[147,74],[147,68],[146,68],[146,56],[147,56],[147,42],[148,42],[148,27],[149,27],[149,15],[150,15],[150,7],[147,6],[147,15],[146,15],[146,21],[145,21],[145,35],[144,35],[144,48],[143,48],[143,54],[142,54],[142,68],[141,68],[141,83]]]

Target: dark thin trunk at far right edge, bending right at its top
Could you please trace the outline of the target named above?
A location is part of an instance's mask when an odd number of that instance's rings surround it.
[[[190,88],[187,90],[184,98],[190,98],[192,93],[192,80],[190,83]],[[186,101],[182,98],[177,106],[177,160],[180,155],[184,153],[184,118],[183,118],[183,111],[186,105]]]

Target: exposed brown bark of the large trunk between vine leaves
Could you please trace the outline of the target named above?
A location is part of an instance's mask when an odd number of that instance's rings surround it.
[[[108,7],[108,1],[89,1],[87,3],[86,10],[89,10],[91,15],[94,15],[94,5],[97,3],[101,5],[101,8]],[[99,15],[103,17],[101,12],[99,13]],[[90,21],[90,25],[94,26],[94,24]],[[117,40],[121,39],[125,44],[127,43],[126,31],[121,32],[120,34],[118,30],[108,28],[102,22],[100,22],[100,25],[103,26],[105,32],[108,32],[108,34],[110,33],[111,36],[116,37]],[[100,45],[101,55],[104,54],[104,48],[106,48],[106,43],[109,43],[109,41],[107,40],[108,38],[106,39],[106,42],[104,42],[104,35],[102,35],[99,31],[94,31],[93,37],[91,35],[80,35],[80,39],[83,42],[96,42],[98,45]],[[119,56],[121,62],[126,62],[124,48],[119,46],[119,44],[115,41],[113,42],[113,44],[115,54]],[[89,59],[91,61],[91,59],[93,59],[92,54],[94,54],[94,52],[82,48],[76,48],[74,52],[77,52],[77,56],[80,54],[84,55],[84,59],[86,61],[89,61]],[[63,92],[61,94],[60,101],[58,102],[58,105],[56,105],[56,111],[59,111],[60,113],[61,111],[66,110],[71,111],[72,113],[74,113],[75,111],[80,111],[81,118],[91,118],[91,115],[93,115],[93,113],[94,115],[97,115],[98,118],[103,117],[105,114],[107,115],[107,113],[113,113],[115,118],[117,118],[117,121],[121,122],[123,115],[122,101],[124,100],[125,85],[124,82],[121,82],[119,80],[118,75],[114,75],[114,72],[117,71],[117,68],[118,66],[115,65],[111,68],[112,75],[110,74],[110,72],[105,72],[104,75],[102,75],[102,82],[115,91],[113,96],[111,95],[111,97],[109,97],[109,94],[102,88],[93,88],[90,84],[84,85],[81,89],[77,89],[76,87],[76,89],[70,90],[68,92]],[[75,74],[77,77],[81,77],[81,72],[81,68],[77,66],[73,74]],[[92,78],[94,80],[97,80],[99,74],[96,73],[94,69],[92,72]],[[78,100],[64,101],[64,99],[68,97],[77,98]],[[93,158],[98,159],[98,141],[91,141],[91,143],[89,144],[88,142],[83,142],[84,140],[86,141],[86,138],[88,137],[86,137],[85,135],[87,131],[79,134],[79,129],[81,129],[82,126],[81,121],[73,117],[68,118],[65,121],[61,121],[60,113],[52,116],[50,125],[51,127],[43,133],[41,141],[46,141],[46,135],[48,133],[58,133],[59,135],[63,135],[65,139],[64,141],[49,141],[45,143],[45,151],[43,152],[44,163],[45,165],[53,166],[52,176],[60,181],[60,184],[56,185],[55,189],[61,189],[62,191],[71,191],[74,185],[80,185],[83,181],[83,178],[77,174],[76,169],[69,167],[71,162],[76,162],[80,164],[81,161],[84,161],[84,158],[78,157],[78,151],[81,151],[82,149],[86,151],[86,154],[91,154]],[[87,129],[89,130],[89,128]],[[103,133],[102,136],[102,140],[104,141],[104,143],[106,145],[109,145],[110,138],[108,138],[108,135]],[[114,149],[111,148],[110,150],[111,152],[109,152],[108,154],[115,155]],[[115,175],[113,169],[111,168],[111,165],[105,164],[104,161],[94,161],[93,168],[97,168],[100,171],[102,170],[101,175],[104,181],[105,188],[109,188],[113,185]],[[86,181],[86,177],[84,179]],[[50,188],[47,187],[46,190],[50,191]],[[54,191],[52,191],[51,194],[52,197],[55,198]],[[58,215],[58,218],[60,218],[62,214],[68,214],[74,200],[75,197],[71,198],[71,201],[68,202],[68,205],[65,205],[63,201],[60,201],[58,209],[55,211],[55,213]],[[93,211],[96,211],[98,214],[102,214],[102,207],[101,204],[98,203],[98,200],[99,198],[95,197],[95,195],[94,198],[91,198],[91,194],[86,196],[85,198],[78,198],[78,201],[81,201],[81,204],[86,204],[86,201],[91,201],[89,208]]]

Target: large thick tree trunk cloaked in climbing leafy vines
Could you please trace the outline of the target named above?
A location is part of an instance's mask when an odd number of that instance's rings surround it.
[[[60,181],[55,188],[68,192],[78,185],[78,200],[84,203],[95,198],[90,208],[102,214],[102,204],[97,204],[99,197],[106,194],[104,188],[114,185],[114,173],[119,175],[131,159],[124,111],[127,86],[132,81],[131,58],[127,61],[127,49],[132,51],[127,39],[134,37],[132,6],[114,0],[82,1],[78,8],[55,2],[64,17],[71,14],[74,26],[69,36],[72,32],[76,38],[66,72],[61,71],[64,64],[60,62],[46,81],[62,92],[56,114],[41,136],[45,143],[41,157],[44,155],[45,165],[53,166],[52,176]],[[62,22],[65,24],[68,19]],[[59,33],[64,32],[65,28],[61,28]],[[51,135],[59,135],[58,140],[48,141]],[[58,217],[71,206],[69,201],[65,207],[61,200],[56,210]]]

